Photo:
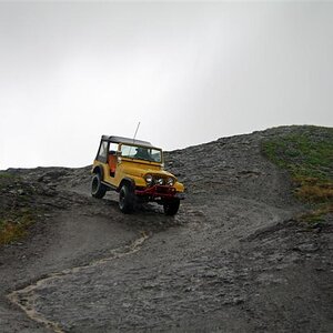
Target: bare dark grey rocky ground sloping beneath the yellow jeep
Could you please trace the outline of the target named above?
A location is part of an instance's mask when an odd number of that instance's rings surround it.
[[[0,248],[0,332],[332,332],[332,216],[296,221],[289,174],[260,149],[294,130],[167,153],[186,186],[173,218],[91,198],[89,167],[9,170],[40,211]]]

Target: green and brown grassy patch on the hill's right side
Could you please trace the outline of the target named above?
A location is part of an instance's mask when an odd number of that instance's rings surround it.
[[[311,204],[312,211],[302,220],[317,222],[333,212],[332,128],[295,128],[290,134],[264,141],[262,149],[272,162],[290,171],[295,195]]]

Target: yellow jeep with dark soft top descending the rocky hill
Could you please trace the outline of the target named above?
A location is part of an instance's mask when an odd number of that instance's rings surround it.
[[[150,142],[102,135],[92,165],[91,194],[103,198],[119,192],[123,213],[134,210],[135,202],[158,202],[167,215],[174,215],[184,199],[184,186],[163,170],[163,153]]]

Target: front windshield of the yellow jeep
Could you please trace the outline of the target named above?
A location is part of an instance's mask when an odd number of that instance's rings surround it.
[[[162,151],[157,148],[121,144],[120,151],[123,158],[162,163]]]

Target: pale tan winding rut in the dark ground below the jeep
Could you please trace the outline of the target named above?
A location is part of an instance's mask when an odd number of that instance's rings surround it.
[[[30,284],[30,285],[28,285],[23,289],[20,289],[20,290],[12,291],[10,294],[7,295],[7,297],[12,303],[14,303],[20,309],[22,309],[31,320],[46,325],[47,327],[53,330],[56,333],[64,333],[64,331],[60,327],[60,325],[57,322],[53,322],[53,321],[50,321],[50,320],[46,319],[43,315],[41,315],[40,313],[38,313],[36,311],[36,309],[34,309],[34,299],[36,299],[34,290],[37,287],[43,285],[44,283],[61,279],[64,275],[72,274],[72,273],[78,273],[78,272],[84,271],[88,268],[102,265],[102,264],[104,264],[109,261],[117,260],[117,259],[133,254],[133,253],[140,251],[143,243],[148,239],[149,239],[148,233],[142,231],[138,239],[132,241],[129,245],[120,246],[118,249],[111,250],[110,255],[107,256],[107,258],[92,261],[92,262],[90,262],[88,264],[84,264],[84,265],[81,265],[81,266],[65,269],[61,272],[49,274],[48,276],[46,276],[41,280],[38,280],[33,284]]]

